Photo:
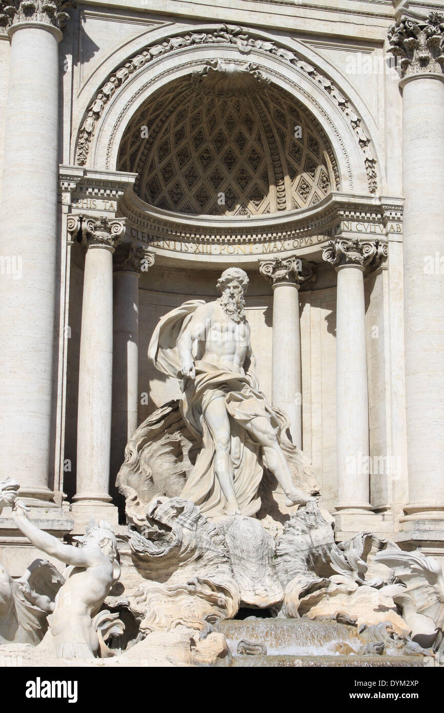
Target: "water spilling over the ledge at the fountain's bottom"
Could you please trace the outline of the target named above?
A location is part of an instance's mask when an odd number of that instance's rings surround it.
[[[310,619],[224,620],[215,629],[227,638],[234,667],[427,666],[422,656],[360,656],[356,627]],[[239,655],[239,642],[262,644],[266,654]]]

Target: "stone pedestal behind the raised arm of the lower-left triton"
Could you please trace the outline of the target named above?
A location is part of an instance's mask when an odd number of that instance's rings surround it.
[[[29,520],[58,540],[63,540],[65,535],[71,533],[74,525],[71,513],[68,513],[66,508],[55,507],[48,510],[48,508],[34,506],[29,513]],[[61,573],[66,567],[60,560],[35,548],[28,538],[16,528],[14,520],[11,518],[11,508],[3,508],[0,515],[0,561],[6,567],[9,575],[21,577],[31,562],[37,558],[49,560]]]

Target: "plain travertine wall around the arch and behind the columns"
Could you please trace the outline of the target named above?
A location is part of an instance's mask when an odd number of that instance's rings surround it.
[[[105,0],[81,3],[72,12],[59,46],[61,68],[59,157],[75,163],[75,143],[85,111],[110,73],[135,56],[159,31],[182,28],[185,34],[197,24],[227,22],[245,28],[259,27],[284,33],[306,48],[310,60],[324,76],[334,79],[344,96],[358,108],[371,134],[378,159],[378,195],[402,195],[401,134],[402,99],[398,73],[387,66],[386,34],[393,24],[391,2],[351,1],[347,8],[335,0],[319,7],[319,1],[294,7],[279,2],[247,3],[224,0],[218,6],[200,2],[124,0],[111,7]],[[162,39],[159,40],[160,42]],[[7,96],[9,41],[0,39],[0,181],[3,156],[4,106]],[[332,131],[337,130],[334,127]],[[341,138],[339,138],[339,141]],[[356,144],[356,153],[360,149]],[[361,155],[359,154],[360,158]],[[340,157],[338,157],[340,160]],[[355,157],[356,158],[356,157]],[[100,167],[104,168],[104,167]],[[116,166],[110,167],[115,170]],[[364,174],[365,175],[365,174]],[[1,184],[0,184],[1,190]],[[401,240],[401,238],[399,239]],[[320,260],[320,255],[316,256]],[[139,284],[139,393],[148,393],[148,404],[139,399],[138,421],[153,409],[179,395],[177,383],[163,377],[148,363],[147,349],[158,319],[186,299],[214,299],[219,272],[202,261],[202,270],[186,262],[157,259]],[[301,364],[303,448],[319,473],[324,503],[337,502],[336,464],[336,275],[319,265],[316,284],[302,289]],[[252,345],[262,390],[270,398],[272,359],[272,289],[251,272],[247,317],[252,326]],[[371,475],[371,504],[401,508],[406,492],[406,428],[403,386],[402,243],[392,242],[388,267],[365,280],[368,358],[369,424],[371,456],[393,456],[399,470],[387,478]],[[76,492],[78,359],[83,290],[83,256],[74,250],[69,289],[69,327],[64,491]],[[376,328],[376,329],[375,329]]]

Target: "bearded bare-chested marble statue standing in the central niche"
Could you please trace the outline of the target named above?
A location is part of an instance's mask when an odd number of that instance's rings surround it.
[[[202,449],[181,498],[206,516],[254,515],[262,456],[282,486],[286,506],[311,498],[294,485],[281,447],[286,418],[259,391],[244,312],[244,270],[222,273],[214,302],[190,300],[160,319],[148,356],[163,374],[180,380],[180,411]],[[286,449],[294,449],[286,441]],[[299,451],[300,453],[300,451]]]

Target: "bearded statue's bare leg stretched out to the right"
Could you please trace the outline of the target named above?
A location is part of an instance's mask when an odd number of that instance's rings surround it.
[[[284,490],[286,506],[306,505],[309,501],[313,501],[314,498],[294,486],[289,464],[269,421],[264,416],[257,416],[250,421],[248,429],[261,444],[267,466]]]

